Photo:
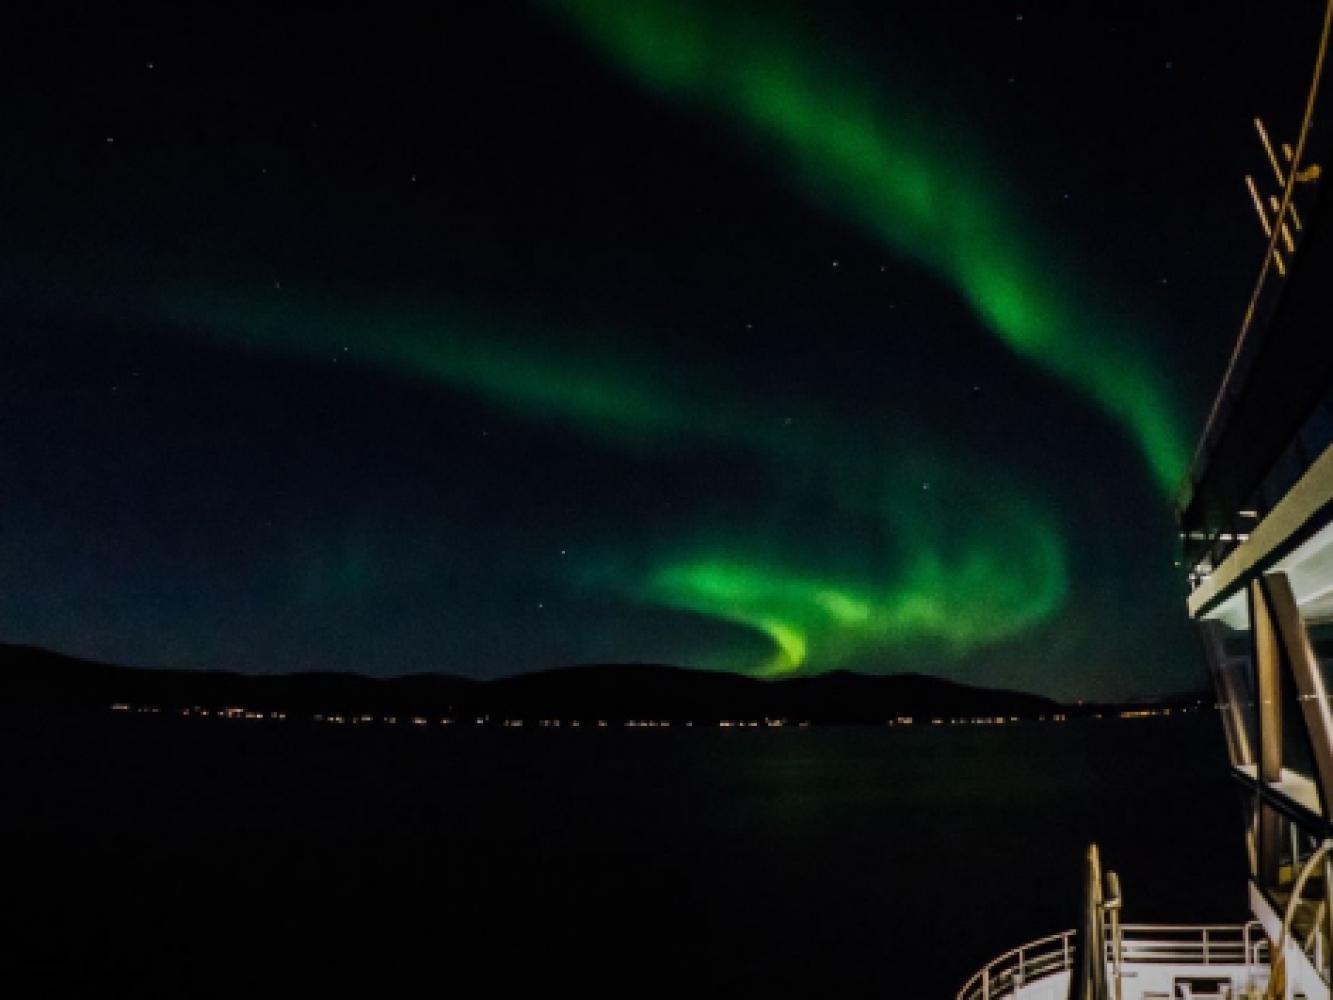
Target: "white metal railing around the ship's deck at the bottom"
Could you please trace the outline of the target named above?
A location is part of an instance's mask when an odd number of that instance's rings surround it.
[[[1248,924],[1122,924],[1120,933],[1121,967],[1268,964],[1268,939],[1257,920]],[[992,959],[962,985],[956,1000],[1001,1000],[1016,996],[1029,983],[1068,972],[1073,967],[1076,935],[1076,931],[1064,931],[1040,937]]]

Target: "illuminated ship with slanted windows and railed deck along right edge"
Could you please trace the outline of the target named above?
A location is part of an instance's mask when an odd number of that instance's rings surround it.
[[[1241,807],[1249,919],[1132,923],[1133,900],[1092,844],[1077,927],[990,960],[957,1000],[1329,1000],[1333,195],[1321,179],[1333,148],[1330,23],[1333,0],[1290,133],[1253,123],[1262,169],[1244,180],[1264,257],[1174,503],[1186,608]]]

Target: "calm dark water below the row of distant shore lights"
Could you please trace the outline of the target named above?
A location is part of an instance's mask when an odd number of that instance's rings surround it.
[[[1245,913],[1210,716],[780,731],[11,715],[0,975],[45,995],[946,997],[1072,927]]]

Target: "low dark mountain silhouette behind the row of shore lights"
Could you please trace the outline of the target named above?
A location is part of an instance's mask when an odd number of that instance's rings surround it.
[[[563,667],[491,681],[443,673],[367,677],[355,673],[249,675],[140,669],[91,663],[47,649],[0,645],[0,704],[163,709],[237,705],[292,713],[401,713],[491,719],[631,719],[717,721],[788,719],[882,723],[898,716],[1017,716],[1061,711],[1016,691],[969,687],[918,673],[833,671],[790,680],[649,664]]]

